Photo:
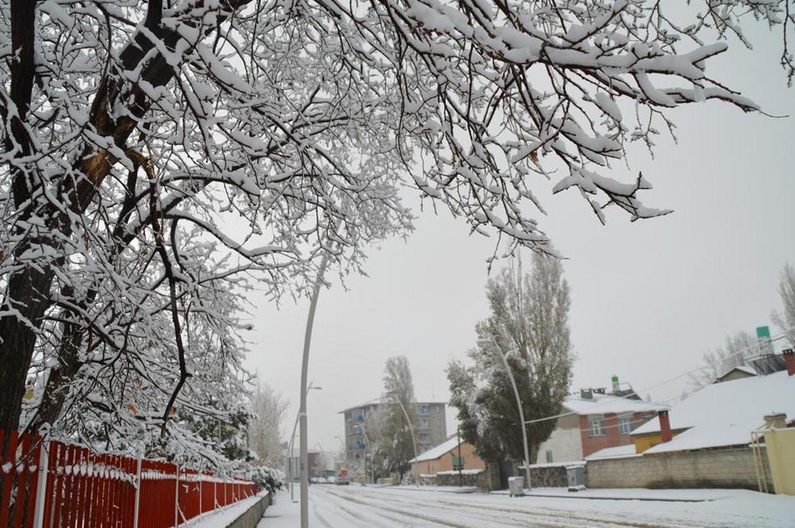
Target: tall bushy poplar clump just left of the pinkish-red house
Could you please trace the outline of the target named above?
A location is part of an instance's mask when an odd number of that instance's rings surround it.
[[[501,355],[513,374],[524,419],[559,414],[571,382],[569,286],[561,261],[536,253],[523,274],[506,268],[486,286],[491,315],[477,326],[473,365],[453,362],[447,370],[451,405],[458,409],[463,437],[486,460],[524,458],[522,420]],[[531,462],[554,420],[527,426]]]

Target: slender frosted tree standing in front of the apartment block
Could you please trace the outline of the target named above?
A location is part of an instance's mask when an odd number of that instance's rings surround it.
[[[405,356],[388,358],[384,365],[383,416],[377,439],[380,465],[400,480],[411,468],[416,448],[417,406],[411,368]]]

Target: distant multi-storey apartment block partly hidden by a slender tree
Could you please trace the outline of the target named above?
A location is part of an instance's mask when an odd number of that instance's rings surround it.
[[[374,416],[385,404],[373,401],[350,407],[340,414],[345,422],[345,457],[351,468],[364,470],[365,454],[369,449],[370,438],[367,436],[368,417]],[[447,417],[444,402],[417,402],[417,429],[414,435],[417,440],[417,452],[422,453],[435,447],[447,438]],[[410,412],[410,409],[407,409]]]

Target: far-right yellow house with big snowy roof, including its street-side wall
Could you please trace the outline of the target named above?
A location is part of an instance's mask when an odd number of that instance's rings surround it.
[[[636,428],[634,446],[588,457],[588,487],[795,495],[795,353],[760,359],[751,363],[756,375],[733,369],[735,379],[707,385]]]

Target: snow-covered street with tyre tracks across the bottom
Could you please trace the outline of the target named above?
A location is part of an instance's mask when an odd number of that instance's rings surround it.
[[[289,493],[280,492],[258,528],[298,526],[298,503],[290,501]],[[313,486],[309,526],[795,528],[795,497],[742,490],[588,490],[576,494],[534,490],[532,496],[511,498],[422,488]]]

